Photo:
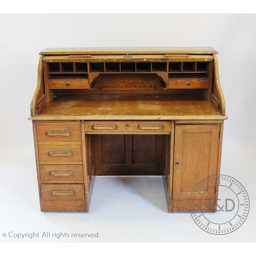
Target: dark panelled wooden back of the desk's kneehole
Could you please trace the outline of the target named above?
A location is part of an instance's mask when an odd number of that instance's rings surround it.
[[[163,135],[94,135],[96,175],[162,175]]]

